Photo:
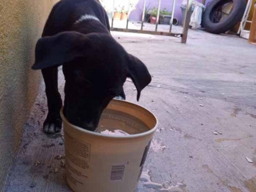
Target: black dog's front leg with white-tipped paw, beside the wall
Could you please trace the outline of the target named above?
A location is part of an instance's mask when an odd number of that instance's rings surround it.
[[[60,132],[62,120],[60,117],[60,109],[62,100],[58,91],[58,68],[42,69],[45,83],[45,92],[48,103],[48,115],[44,121],[44,132],[52,134]]]

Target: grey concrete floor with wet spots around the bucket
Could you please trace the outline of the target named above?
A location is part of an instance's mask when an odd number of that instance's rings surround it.
[[[188,44],[177,37],[113,35],[153,76],[139,103],[156,114],[159,132],[137,191],[255,192],[256,46],[236,36],[192,30]],[[133,88],[128,80],[127,100],[136,102]],[[42,84],[4,191],[71,191],[54,158],[64,154],[61,135],[42,132],[43,89]]]

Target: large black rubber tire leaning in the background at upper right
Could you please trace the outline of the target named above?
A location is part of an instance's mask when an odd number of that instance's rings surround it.
[[[213,21],[214,13],[218,7],[226,3],[233,1],[232,12],[223,20],[219,22]],[[243,15],[246,8],[245,0],[212,0],[206,7],[203,17],[203,26],[206,31],[210,33],[220,34],[225,33],[229,29],[233,28],[238,23]]]

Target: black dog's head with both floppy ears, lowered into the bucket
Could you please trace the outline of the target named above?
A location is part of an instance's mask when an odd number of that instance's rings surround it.
[[[64,115],[70,123],[91,131],[110,100],[121,93],[127,77],[137,88],[137,100],[151,81],[146,66],[105,34],[63,32],[39,39],[32,68],[60,65],[66,80]]]

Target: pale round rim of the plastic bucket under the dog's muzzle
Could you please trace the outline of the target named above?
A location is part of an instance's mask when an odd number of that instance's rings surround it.
[[[144,110],[148,111],[156,119],[155,126],[152,129],[150,129],[149,131],[146,131],[146,132],[143,132],[143,133],[137,133],[137,134],[132,134],[132,135],[107,135],[107,134],[102,134],[102,133],[99,133],[99,132],[92,132],[92,131],[83,129],[81,127],[78,127],[76,125],[73,125],[73,124],[69,123],[69,121],[66,119],[66,117],[63,114],[63,108],[64,107],[62,107],[60,109],[60,116],[61,116],[61,119],[62,119],[63,123],[65,122],[66,124],[68,124],[73,129],[76,129],[80,132],[87,133],[87,134],[97,136],[97,137],[104,137],[104,138],[110,138],[110,139],[135,139],[135,138],[145,137],[145,136],[148,136],[150,134],[154,134],[154,132],[156,132],[156,129],[158,127],[158,119],[156,118],[156,116],[149,109],[147,109],[145,107],[142,107],[141,105],[132,103],[130,101],[124,101],[124,100],[118,100],[118,99],[113,99],[113,100],[116,100],[118,102],[125,102],[125,103],[129,103],[129,104],[132,104],[132,105],[136,105],[136,106],[138,106],[140,108],[143,108]],[[63,128],[63,129],[65,129],[65,128]]]

